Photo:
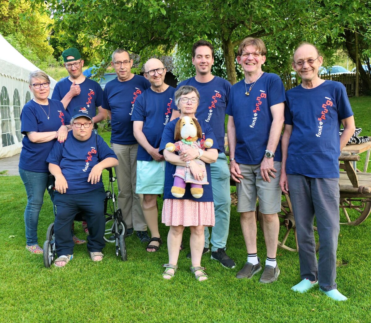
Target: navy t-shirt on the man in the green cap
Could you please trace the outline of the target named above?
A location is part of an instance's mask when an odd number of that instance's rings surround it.
[[[52,99],[58,101],[62,100],[70,90],[71,85],[72,82],[68,78],[59,81],[54,88]],[[67,124],[69,124],[71,120],[73,109],[77,106],[81,105],[88,108],[88,110],[92,110],[93,117],[95,117],[96,107],[100,107],[102,105],[103,90],[97,82],[93,81],[92,79],[85,78],[85,81],[79,85],[81,89],[80,94],[73,97],[66,108]]]

